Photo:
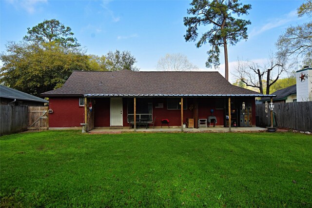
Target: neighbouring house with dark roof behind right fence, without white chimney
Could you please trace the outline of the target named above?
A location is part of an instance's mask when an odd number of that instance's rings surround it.
[[[276,95],[276,97],[273,97],[273,103],[292,103],[297,102],[297,86],[296,84],[286,87],[284,89],[276,90],[272,93],[273,95]],[[270,103],[270,98],[261,98],[260,102]]]

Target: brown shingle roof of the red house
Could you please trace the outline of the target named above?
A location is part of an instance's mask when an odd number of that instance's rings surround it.
[[[64,85],[41,96],[114,95],[254,95],[229,83],[218,72],[74,71]]]

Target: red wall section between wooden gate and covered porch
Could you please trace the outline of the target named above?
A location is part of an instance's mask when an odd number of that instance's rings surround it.
[[[79,106],[78,97],[51,97],[49,127],[76,127],[84,123],[84,106]]]

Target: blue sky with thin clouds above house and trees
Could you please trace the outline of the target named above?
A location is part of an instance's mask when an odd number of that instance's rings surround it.
[[[87,54],[104,55],[109,51],[128,50],[137,59],[141,71],[156,70],[160,57],[182,53],[199,70],[205,67],[210,45],[196,48],[185,42],[183,17],[189,0],[0,0],[0,51],[8,41],[20,41],[44,20],[57,19],[70,26]],[[266,62],[275,51],[274,43],[290,25],[304,21],[297,18],[296,8],[302,0],[242,0],[252,9],[243,18],[252,21],[249,39],[229,46],[230,73],[237,57]],[[202,28],[201,31],[204,31]],[[219,72],[224,75],[223,48]],[[230,78],[233,81],[232,76]]]

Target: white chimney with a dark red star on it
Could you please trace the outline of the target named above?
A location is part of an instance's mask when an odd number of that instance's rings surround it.
[[[297,102],[312,101],[312,68],[296,71]]]

